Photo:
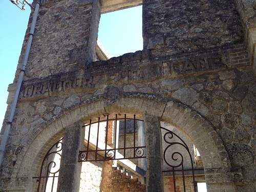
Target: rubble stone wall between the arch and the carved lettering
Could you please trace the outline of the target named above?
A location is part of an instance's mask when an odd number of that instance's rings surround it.
[[[107,66],[111,69],[111,65]],[[142,69],[139,66],[138,62],[138,68]],[[163,65],[161,66],[163,67]],[[136,65],[133,64],[133,67]],[[248,170],[251,170],[255,154],[253,144],[255,140],[255,77],[253,72],[249,67],[219,69],[212,72],[207,70],[204,73],[193,72],[190,71],[190,74],[182,75],[182,79],[179,76],[168,77],[166,73],[167,77],[163,77],[160,68],[159,71],[154,71],[156,73],[155,80],[144,81],[142,78],[140,80],[139,77],[143,77],[142,75],[134,76],[127,81],[124,79],[121,82],[115,78],[109,80],[124,93],[156,93],[168,99],[178,100],[196,110],[214,125],[230,154],[232,165],[248,167]],[[113,71],[113,74],[115,74],[114,77],[117,77],[120,71]],[[148,76],[144,77],[148,78]],[[65,82],[65,80],[60,82]],[[23,90],[26,90],[26,86],[36,87],[35,83],[36,81],[25,82]],[[104,84],[97,82],[94,84],[94,88],[70,87],[61,91],[53,90],[50,92],[51,97],[48,97],[49,92],[45,95],[41,93],[31,95],[28,98],[20,95],[16,111],[19,116],[14,119],[6,152],[6,157],[12,157],[12,160],[10,161],[9,158],[4,160],[3,174],[8,178],[13,171],[15,173],[12,168],[13,162],[16,161],[23,148],[28,146],[31,135],[37,135],[42,131],[42,124],[63,113],[74,104],[90,97],[100,96],[104,93],[104,87]],[[76,90],[75,94],[74,90]],[[73,94],[70,95],[71,92]],[[200,149],[200,146],[197,147]],[[199,152],[201,153],[201,151]],[[206,166],[208,165],[206,164]],[[251,180],[251,177],[248,180]]]

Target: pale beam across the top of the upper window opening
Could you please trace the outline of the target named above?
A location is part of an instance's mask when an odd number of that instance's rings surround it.
[[[101,0],[101,13],[109,13],[142,5],[142,0]]]

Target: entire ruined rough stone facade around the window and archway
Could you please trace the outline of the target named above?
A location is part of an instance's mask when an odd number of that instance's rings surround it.
[[[154,116],[190,138],[203,160],[207,191],[255,191],[256,2],[111,2],[41,2],[1,166],[0,190],[34,191],[33,177],[38,177],[44,155],[68,127],[102,114],[120,113],[141,119],[143,114]],[[101,10],[140,4],[143,50],[96,61]],[[17,72],[8,88],[1,134],[32,14]],[[154,169],[150,172],[154,174]]]

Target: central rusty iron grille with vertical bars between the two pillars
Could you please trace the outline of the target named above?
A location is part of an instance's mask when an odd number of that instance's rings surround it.
[[[124,130],[123,130],[123,146],[119,147],[117,144],[118,141],[118,127],[117,123],[118,121],[123,121],[124,124]],[[132,146],[127,147],[126,143],[126,136],[128,134],[127,130],[127,121],[132,121],[132,130],[131,127],[130,133],[133,134],[133,143]],[[110,160],[121,160],[121,159],[138,159],[138,158],[145,158],[145,146],[139,146],[138,142],[136,142],[136,122],[142,121],[140,119],[136,119],[136,115],[134,115],[134,118],[127,118],[126,115],[124,115],[123,118],[118,118],[117,115],[115,115],[114,119],[109,119],[109,115],[106,115],[106,119],[100,120],[100,117],[98,118],[98,121],[92,122],[90,120],[90,123],[86,125],[86,131],[88,129],[88,138],[87,138],[87,150],[86,151],[80,151],[79,152],[79,161],[110,161]],[[103,133],[105,132],[104,137],[104,144],[105,146],[103,148],[99,147],[99,140],[100,140],[100,133],[102,133],[102,127],[100,127],[100,123],[105,123],[105,130],[103,130]],[[90,150],[90,144],[91,144],[91,131],[92,126],[94,124],[97,124],[97,138],[96,138],[96,148],[95,150]],[[111,129],[110,124],[114,124],[113,129]],[[100,130],[101,128],[101,130]],[[111,134],[109,133],[111,132]],[[110,136],[113,135],[113,138]],[[120,153],[119,153],[120,152]],[[129,153],[127,153],[129,152]],[[94,158],[89,159],[89,155],[94,156]],[[100,158],[103,157],[103,158]]]

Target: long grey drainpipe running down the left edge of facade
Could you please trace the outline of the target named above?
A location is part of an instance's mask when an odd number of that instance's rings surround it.
[[[34,11],[34,14],[33,14],[33,20],[32,20],[32,24],[31,24],[31,28],[30,28],[30,32],[29,32],[28,45],[27,45],[25,55],[24,55],[24,58],[23,58],[23,61],[22,61],[22,68],[20,69],[18,82],[17,82],[17,86],[16,86],[16,91],[15,91],[15,95],[14,95],[12,105],[11,105],[10,114],[9,114],[8,121],[7,121],[7,126],[5,127],[5,132],[4,132],[4,135],[3,135],[2,140],[1,140],[0,166],[3,162],[3,158],[4,158],[4,154],[5,154],[5,147],[6,147],[6,143],[7,143],[7,140],[8,140],[9,132],[10,132],[10,129],[11,129],[11,125],[12,125],[12,121],[13,121],[13,117],[14,117],[14,113],[15,113],[15,109],[16,109],[16,105],[17,105],[20,87],[22,87],[22,82],[23,82],[23,78],[24,78],[24,74],[25,74],[25,68],[26,68],[27,62],[28,62],[28,57],[29,57],[29,52],[30,52],[32,40],[33,40],[33,35],[34,35],[34,31],[35,31],[35,25],[36,25],[36,19],[37,19],[37,16],[38,16],[38,12],[39,12],[39,2],[37,2],[36,6],[35,6],[35,11]]]

